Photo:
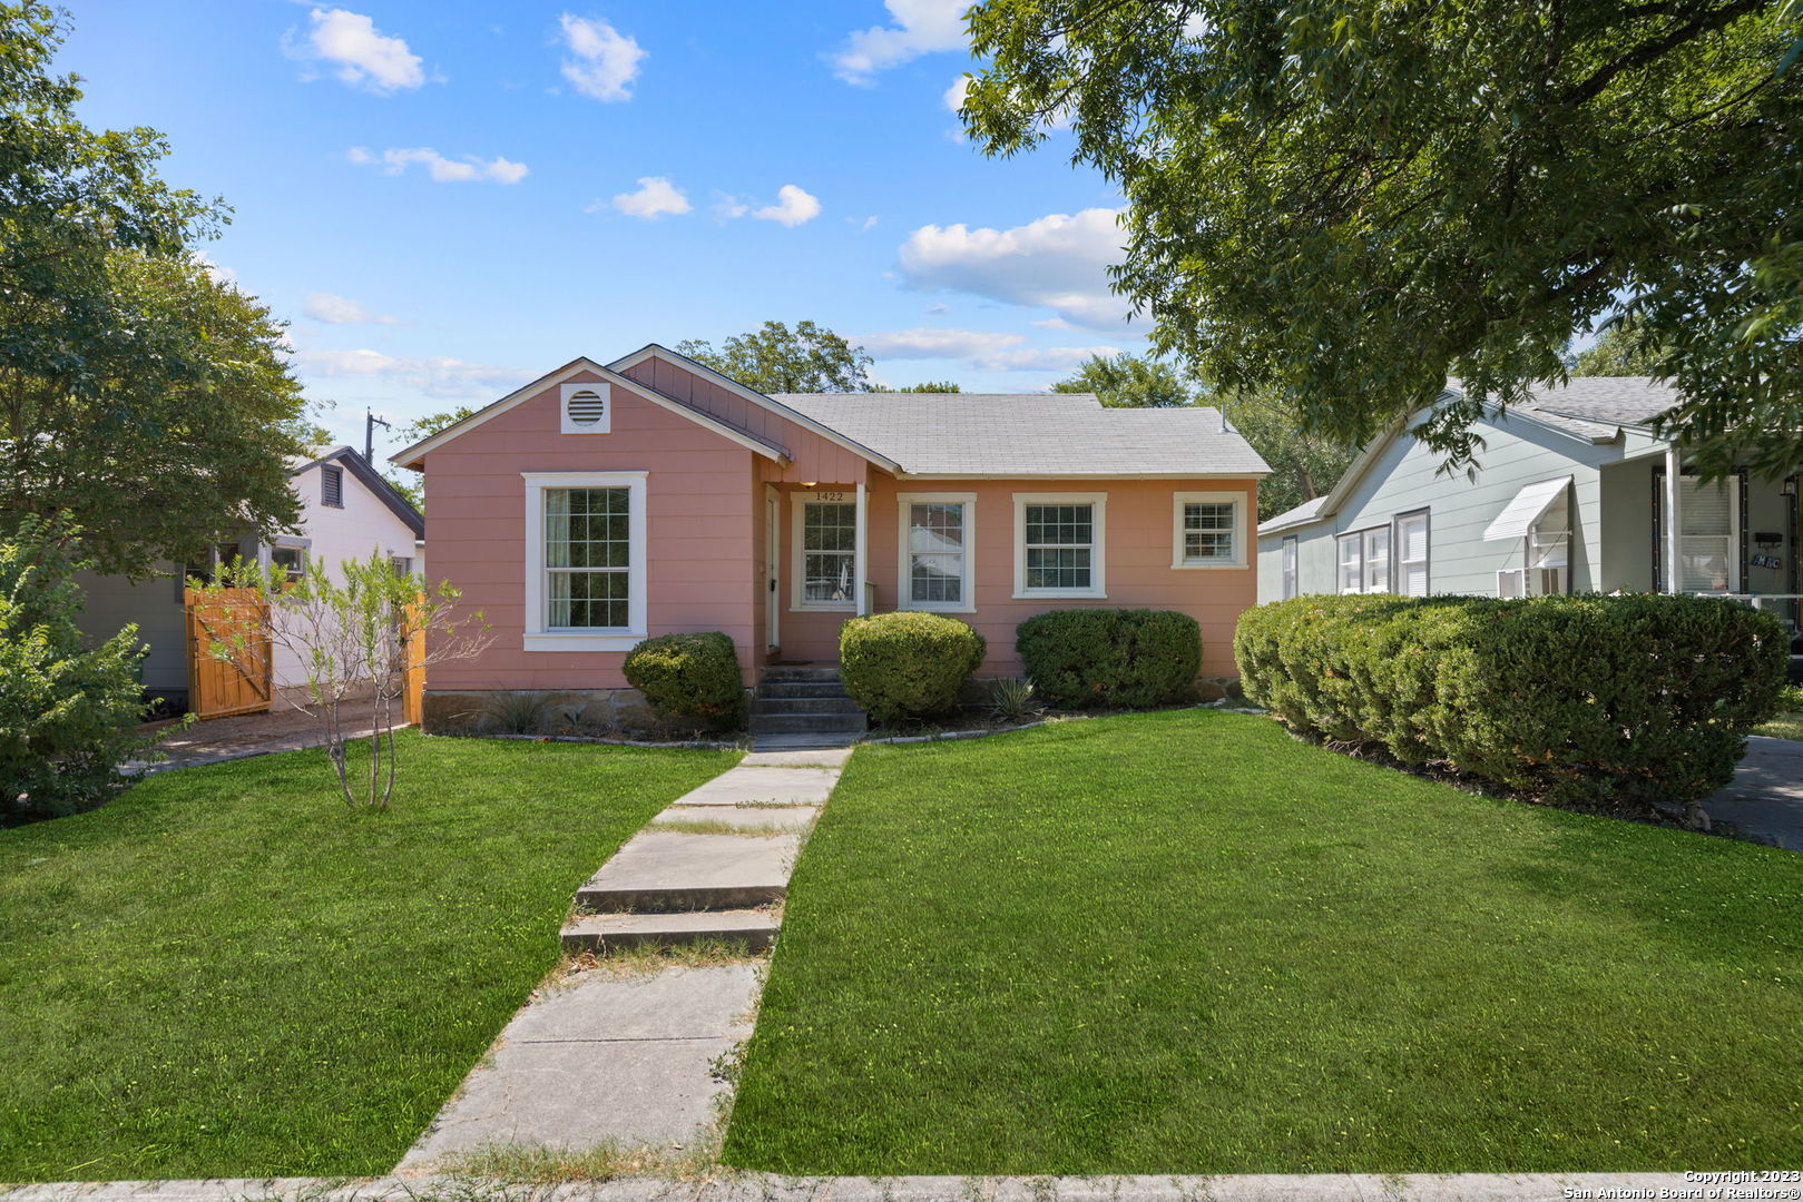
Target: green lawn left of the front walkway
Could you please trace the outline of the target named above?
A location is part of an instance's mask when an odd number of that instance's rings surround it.
[[[736,755],[398,735],[0,831],[0,1180],[380,1173],[557,961],[572,890]]]

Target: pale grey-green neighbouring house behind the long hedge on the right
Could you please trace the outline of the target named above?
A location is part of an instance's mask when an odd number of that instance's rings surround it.
[[[1625,589],[1756,598],[1796,622],[1798,476],[1700,485],[1650,429],[1675,400],[1646,377],[1572,378],[1486,418],[1471,474],[1394,431],[1258,526],[1258,600]]]

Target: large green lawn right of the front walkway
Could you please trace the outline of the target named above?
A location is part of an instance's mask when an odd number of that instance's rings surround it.
[[[860,750],[727,1135],[799,1173],[1706,1170],[1803,1148],[1803,856],[1208,710]]]

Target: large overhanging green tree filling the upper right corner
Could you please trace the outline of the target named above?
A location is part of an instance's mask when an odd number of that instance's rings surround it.
[[[1803,460],[1798,0],[984,0],[965,121],[1069,124],[1154,346],[1361,443],[1565,373],[1625,306],[1704,469]]]

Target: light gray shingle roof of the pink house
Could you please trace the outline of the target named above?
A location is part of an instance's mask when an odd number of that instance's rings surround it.
[[[1089,393],[777,393],[911,476],[1260,476],[1221,411],[1105,409]]]

